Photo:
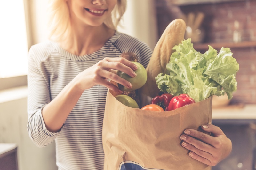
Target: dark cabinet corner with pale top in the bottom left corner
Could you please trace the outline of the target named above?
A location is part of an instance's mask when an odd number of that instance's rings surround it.
[[[16,144],[0,143],[0,169],[18,170]]]

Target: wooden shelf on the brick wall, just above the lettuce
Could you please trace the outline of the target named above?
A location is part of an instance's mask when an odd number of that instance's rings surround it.
[[[194,48],[198,51],[205,50],[207,51],[208,45],[212,46],[212,48],[219,50],[221,47],[224,48],[247,48],[247,47],[256,47],[256,41],[244,41],[244,42],[223,42],[223,43],[203,43],[203,44],[194,44]]]

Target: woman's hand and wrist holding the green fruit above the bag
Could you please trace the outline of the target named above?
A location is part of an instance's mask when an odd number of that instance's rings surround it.
[[[134,70],[137,69],[138,67],[134,63],[122,57],[106,57],[92,67],[78,74],[75,80],[78,83],[78,88],[80,88],[81,90],[89,89],[94,85],[103,85],[115,92],[122,92],[117,86],[109,82],[109,80],[115,81],[121,85],[124,85],[125,87],[131,88],[132,84],[127,80],[119,77],[116,74],[116,70],[123,71],[129,76],[135,77],[136,73],[134,72]]]

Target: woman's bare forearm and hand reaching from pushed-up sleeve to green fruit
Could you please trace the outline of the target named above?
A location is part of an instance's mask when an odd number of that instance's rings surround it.
[[[58,132],[84,90],[94,85],[103,85],[113,91],[120,91],[108,81],[112,80],[125,87],[132,87],[131,83],[112,73],[111,70],[121,70],[135,77],[136,73],[133,70],[136,69],[136,65],[124,58],[105,58],[78,74],[43,108],[42,115],[47,129],[51,132]]]

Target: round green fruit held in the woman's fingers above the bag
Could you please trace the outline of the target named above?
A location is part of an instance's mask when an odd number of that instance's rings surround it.
[[[132,83],[132,88],[130,88],[130,89],[127,88],[127,87],[124,87],[123,85],[118,83],[118,87],[119,87],[120,90],[123,90],[123,91],[137,90],[140,87],[142,87],[143,85],[145,85],[145,83],[147,81],[148,75],[147,75],[147,71],[143,67],[143,65],[141,65],[138,62],[132,62],[132,63],[134,63],[138,67],[138,69],[134,71],[137,74],[137,76],[131,77],[128,74],[126,74],[126,73],[124,73],[122,71],[119,71],[119,70],[116,73],[121,78],[124,78],[125,80],[129,81],[130,83]]]

